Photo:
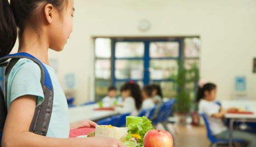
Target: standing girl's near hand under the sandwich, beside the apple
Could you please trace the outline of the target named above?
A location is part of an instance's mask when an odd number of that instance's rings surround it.
[[[90,144],[92,147],[126,147],[125,144],[115,138],[92,137],[87,139],[92,139],[93,144]]]

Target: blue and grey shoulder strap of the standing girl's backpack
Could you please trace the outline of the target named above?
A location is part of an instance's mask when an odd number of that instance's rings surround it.
[[[44,101],[42,104],[40,104],[40,106],[36,107],[29,131],[45,136],[48,131],[53,107],[53,86],[49,72],[41,61],[27,53],[16,53],[2,57],[0,58],[0,65],[6,65],[6,60],[10,58],[12,58],[12,60],[15,60],[15,64],[18,59],[30,59],[34,61],[37,65],[39,65],[41,69],[41,86],[44,93]],[[10,67],[7,66],[6,76],[10,74],[10,71],[15,64],[8,65]]]

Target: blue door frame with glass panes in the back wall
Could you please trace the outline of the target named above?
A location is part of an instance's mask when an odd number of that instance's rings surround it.
[[[143,42],[144,43],[144,57],[141,58],[116,58],[116,43],[117,42]],[[179,55],[177,58],[173,58],[173,57],[165,57],[165,58],[150,58],[150,53],[149,53],[149,44],[151,42],[177,42],[179,44]],[[116,60],[143,60],[144,61],[144,73],[143,73],[143,83],[144,85],[149,85],[150,83],[150,72],[149,72],[149,67],[150,67],[150,60],[154,60],[154,59],[158,59],[158,60],[166,60],[166,59],[170,59],[170,60],[178,60],[179,62],[182,59],[182,49],[181,49],[181,40],[129,40],[129,39],[125,39],[125,40],[117,40],[117,39],[113,39],[112,42],[112,68],[111,68],[111,82],[113,86],[116,86],[116,82],[117,81],[139,81],[140,79],[117,79],[115,76],[115,69],[116,69]],[[160,79],[160,80],[151,80],[153,82],[162,82],[162,81],[173,81],[173,79]]]

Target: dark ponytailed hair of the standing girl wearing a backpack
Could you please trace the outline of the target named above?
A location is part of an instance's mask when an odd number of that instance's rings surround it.
[[[40,12],[43,12],[44,6],[52,4],[60,12],[64,2],[67,4],[68,0],[11,0],[10,4],[8,0],[0,0],[0,57],[12,51],[17,28],[19,38],[25,27],[32,27],[36,31],[36,25],[41,24]]]

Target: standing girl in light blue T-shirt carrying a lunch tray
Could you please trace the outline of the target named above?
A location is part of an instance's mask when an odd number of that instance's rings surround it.
[[[67,139],[69,129],[95,127],[84,120],[69,124],[68,105],[48,50],[61,51],[72,31],[73,0],[0,0],[0,57],[10,54],[17,36],[18,52],[31,54],[48,69],[53,89],[52,116],[46,137],[29,132],[35,108],[44,100],[41,70],[32,60],[20,59],[8,77],[2,146],[125,146],[112,138]]]

